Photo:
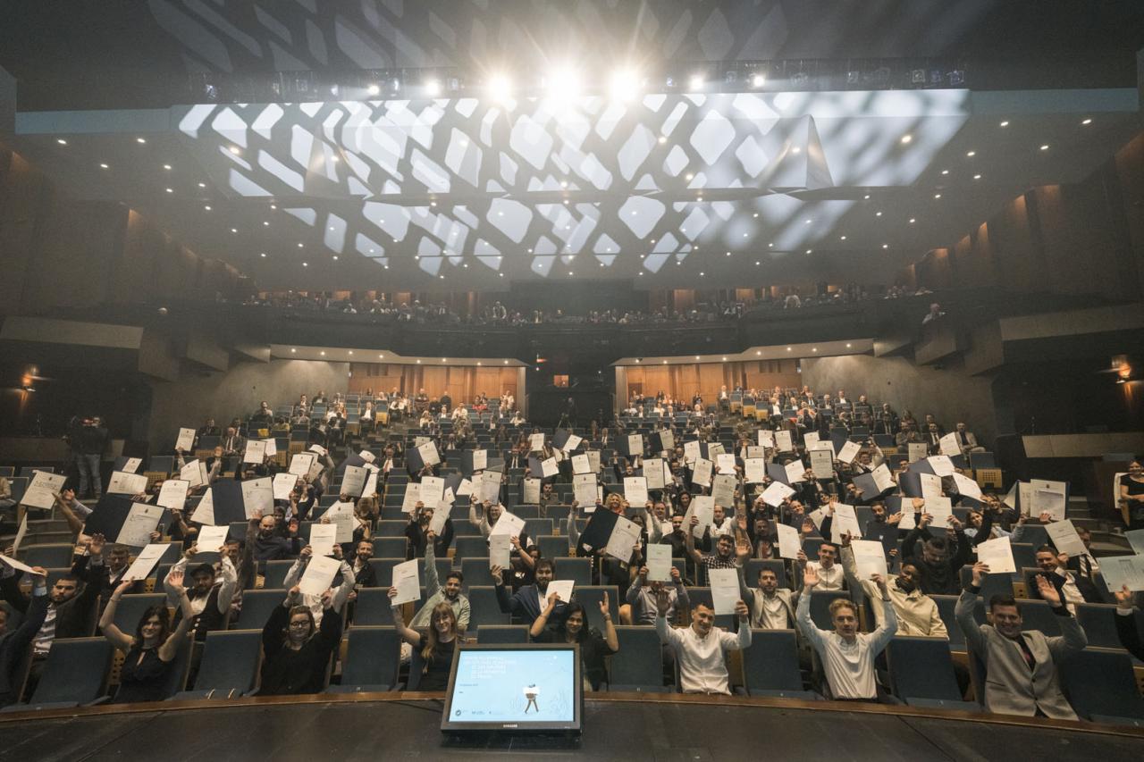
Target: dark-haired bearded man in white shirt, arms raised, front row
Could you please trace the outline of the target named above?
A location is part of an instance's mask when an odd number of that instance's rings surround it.
[[[734,613],[739,618],[739,634],[723,632],[715,627],[715,611],[704,603],[691,610],[691,627],[680,629],[667,624],[666,614],[670,598],[666,589],[656,597],[656,633],[660,643],[672,648],[680,665],[680,688],[684,693],[731,694],[724,651],[742,651],[750,648],[750,626],[747,621],[747,604],[738,601]],[[715,632],[713,632],[715,630]]]

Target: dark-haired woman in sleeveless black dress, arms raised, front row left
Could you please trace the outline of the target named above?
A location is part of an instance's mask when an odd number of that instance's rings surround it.
[[[167,590],[177,590],[178,603],[183,610],[175,629],[170,628],[170,616],[166,605],[149,606],[135,627],[135,636],[126,634],[116,627],[116,609],[119,598],[132,589],[135,580],[127,579],[119,584],[108,601],[108,608],[100,618],[100,629],[111,644],[126,653],[124,666],[119,673],[119,690],[116,692],[116,704],[134,701],[161,701],[167,698],[166,688],[170,674],[172,661],[178,653],[178,646],[186,635],[194,612],[183,587],[183,572],[175,570],[167,574]]]

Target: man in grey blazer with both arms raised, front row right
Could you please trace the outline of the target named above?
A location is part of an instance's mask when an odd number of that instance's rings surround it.
[[[1008,595],[994,595],[986,614],[990,624],[978,625],[974,608],[988,572],[984,563],[974,565],[972,582],[954,609],[969,649],[985,665],[985,708],[999,714],[1075,720],[1077,713],[1060,691],[1057,665],[1088,644],[1085,630],[1062,603],[1059,590],[1043,577],[1036,578],[1038,588],[1052,613],[1060,617],[1063,635],[1022,632],[1020,611]]]

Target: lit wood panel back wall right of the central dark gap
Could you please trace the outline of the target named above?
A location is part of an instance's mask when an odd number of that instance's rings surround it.
[[[756,389],[801,386],[797,360],[749,360],[740,363],[686,363],[680,365],[630,365],[623,400],[635,392],[654,396],[662,391],[688,402],[696,394],[714,402],[720,387]]]

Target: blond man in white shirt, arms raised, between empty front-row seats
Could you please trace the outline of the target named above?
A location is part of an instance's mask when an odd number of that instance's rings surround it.
[[[842,701],[877,701],[877,683],[874,680],[874,659],[889,645],[898,632],[898,617],[885,589],[885,578],[874,574],[883,603],[884,618],[873,633],[858,632],[858,608],[852,601],[837,598],[831,603],[831,621],[834,630],[818,629],[810,618],[811,590],[818,585],[818,573],[807,567],[802,596],[795,619],[802,634],[818,652],[826,673],[831,697]]]

